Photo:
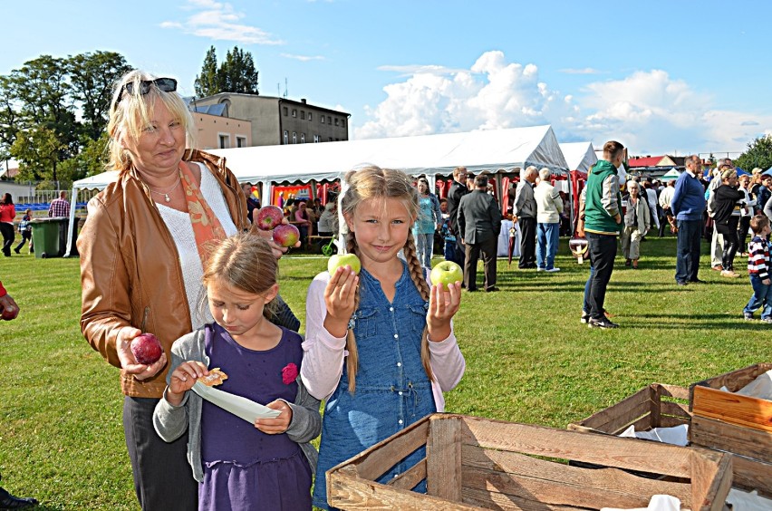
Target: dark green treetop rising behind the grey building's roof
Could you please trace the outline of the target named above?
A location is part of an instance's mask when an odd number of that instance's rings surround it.
[[[252,53],[234,46],[228,51],[225,61],[217,67],[215,47],[211,46],[204,57],[201,74],[196,76],[196,94],[199,97],[212,96],[219,92],[258,94],[258,72]]]

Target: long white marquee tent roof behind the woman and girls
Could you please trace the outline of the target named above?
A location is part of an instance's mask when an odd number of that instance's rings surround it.
[[[555,132],[548,125],[392,139],[215,149],[210,152],[225,157],[228,169],[239,181],[262,183],[264,204],[272,195],[270,188],[274,183],[333,180],[363,163],[402,169],[413,176],[426,174],[430,181],[437,174],[449,175],[460,165],[476,174],[485,171],[514,172],[528,165],[547,167],[556,173],[569,169]],[[72,184],[72,202],[77,200],[79,189],[101,189],[115,178],[114,172],[105,172],[75,181]],[[430,184],[433,186],[433,182]],[[72,208],[68,240],[72,240],[74,214]],[[71,251],[69,243],[68,255]]]

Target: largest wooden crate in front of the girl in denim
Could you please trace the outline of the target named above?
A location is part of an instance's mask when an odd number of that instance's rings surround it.
[[[421,446],[426,446],[426,458],[388,485],[375,482]],[[566,459],[608,468],[570,467],[560,462]],[[328,502],[341,509],[633,508],[648,506],[652,495],[666,494],[680,498],[683,509],[719,510],[731,487],[731,457],[709,449],[436,413],[326,476]],[[409,490],[424,478],[427,495]]]

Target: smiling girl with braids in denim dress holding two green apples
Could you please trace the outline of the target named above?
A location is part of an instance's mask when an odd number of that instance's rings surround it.
[[[314,278],[301,367],[309,393],[326,400],[314,482],[314,506],[324,509],[325,471],[443,411],[442,392],[458,384],[465,368],[451,323],[460,283],[427,283],[410,232],[419,213],[411,179],[374,166],[352,170],[345,179],[346,249],[359,256],[362,271],[356,275],[344,266]],[[420,448],[379,482],[424,457]],[[426,481],[413,490],[425,492]]]

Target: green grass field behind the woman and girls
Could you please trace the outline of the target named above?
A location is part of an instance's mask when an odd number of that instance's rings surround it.
[[[463,295],[455,325],[467,372],[448,410],[565,428],[654,381],[688,385],[772,362],[767,324],[742,319],[748,279],[721,278],[707,244],[702,251],[708,284],[687,287],[673,280],[672,237],[643,243],[638,271],[618,258],[606,301],[622,325],[613,331],[579,323],[587,265],[567,256],[565,239],[558,274],[499,260],[502,292]],[[305,290],[325,266],[282,260],[282,295],[301,319]],[[138,509],[118,372],[78,325],[78,260],[0,258],[0,279],[22,308],[0,322],[2,486],[37,497],[41,509]]]

